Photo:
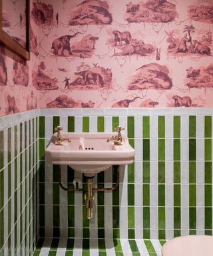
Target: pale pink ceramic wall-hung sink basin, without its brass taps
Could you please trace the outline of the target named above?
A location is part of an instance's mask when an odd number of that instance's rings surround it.
[[[86,176],[94,176],[111,165],[126,165],[134,160],[134,149],[122,134],[122,145],[114,145],[107,139],[116,133],[62,133],[62,145],[55,145],[54,133],[45,151],[48,163],[69,165]]]

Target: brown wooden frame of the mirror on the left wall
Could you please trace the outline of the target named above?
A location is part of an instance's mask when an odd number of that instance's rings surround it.
[[[8,1],[8,0],[7,0]],[[2,11],[3,11],[3,0],[0,0],[0,43],[7,47],[7,49],[13,51],[17,55],[23,57],[25,60],[30,59],[29,49],[29,17],[30,17],[30,4],[29,0],[26,0],[26,48],[22,47],[12,37],[10,37],[2,27]]]

